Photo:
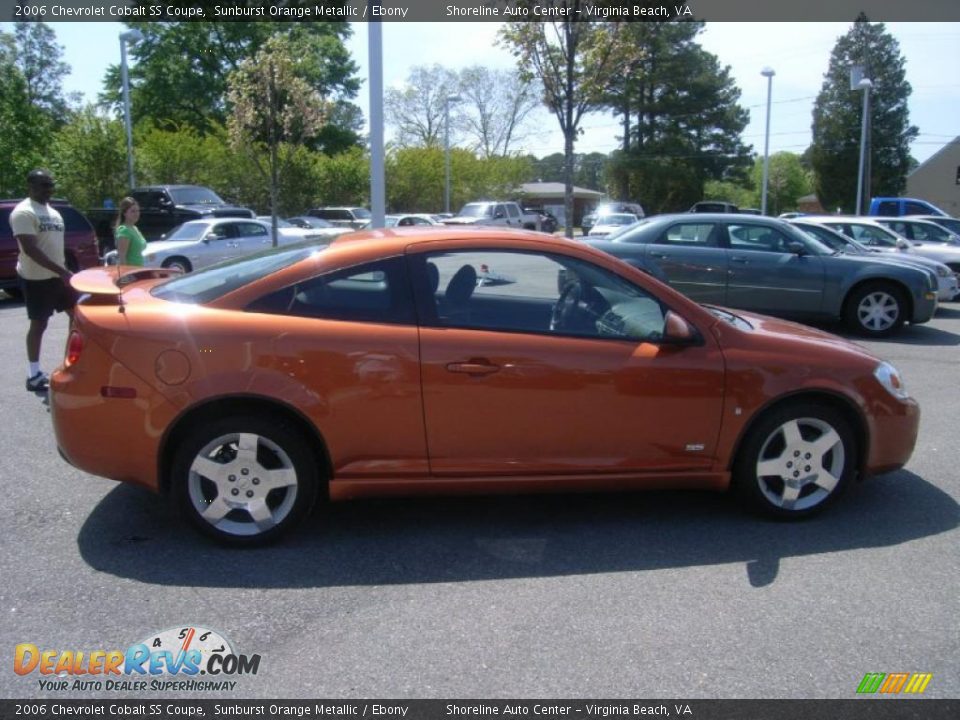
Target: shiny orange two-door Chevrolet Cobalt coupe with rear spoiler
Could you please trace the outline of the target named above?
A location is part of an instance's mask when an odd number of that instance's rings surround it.
[[[802,517],[917,436],[862,348],[538,233],[370,231],[73,284],[62,454],[235,544],[321,497],[733,486]]]

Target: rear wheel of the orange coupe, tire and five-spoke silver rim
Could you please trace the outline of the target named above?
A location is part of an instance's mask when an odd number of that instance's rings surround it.
[[[197,425],[174,452],[176,502],[218,542],[272,542],[316,502],[320,478],[308,441],[277,417],[238,415]]]

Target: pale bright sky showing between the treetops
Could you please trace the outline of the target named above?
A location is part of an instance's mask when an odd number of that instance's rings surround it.
[[[9,24],[3,29],[10,31]],[[94,100],[106,68],[120,61],[119,23],[50,23],[64,47],[64,60],[72,67],[64,83],[68,92]],[[960,23],[886,23],[900,43],[906,59],[907,80],[913,86],[910,121],[920,129],[911,147],[920,162],[960,135]],[[353,24],[348,42],[360,66],[363,88],[355,102],[366,114],[367,25]],[[440,64],[452,70],[471,65],[515,68],[514,58],[496,45],[498,23],[383,24],[383,79],[400,87],[410,70]],[[801,153],[810,144],[813,102],[823,83],[830,52],[850,23],[707,23],[701,45],[729,65],[741,91],[740,104],[750,111],[744,141],[763,153],[767,79],[760,71],[769,66],[776,75],[771,90],[770,153]],[[532,118],[523,149],[542,157],[563,152],[563,137],[556,119],[545,110]],[[390,139],[389,117],[386,118]],[[607,153],[619,145],[620,126],[610,114],[593,114],[583,123],[584,135],[576,152]]]

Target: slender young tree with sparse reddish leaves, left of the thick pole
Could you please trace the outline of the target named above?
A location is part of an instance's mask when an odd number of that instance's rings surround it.
[[[227,124],[231,144],[249,152],[269,182],[274,246],[280,175],[293,157],[292,146],[315,135],[327,112],[323,98],[298,74],[294,52],[289,40],[274,36],[227,80],[233,106]]]

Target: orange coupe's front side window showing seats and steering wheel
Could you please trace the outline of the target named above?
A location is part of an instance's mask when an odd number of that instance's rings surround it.
[[[562,255],[433,253],[415,273],[422,321],[441,327],[656,342],[660,302],[616,273]]]

